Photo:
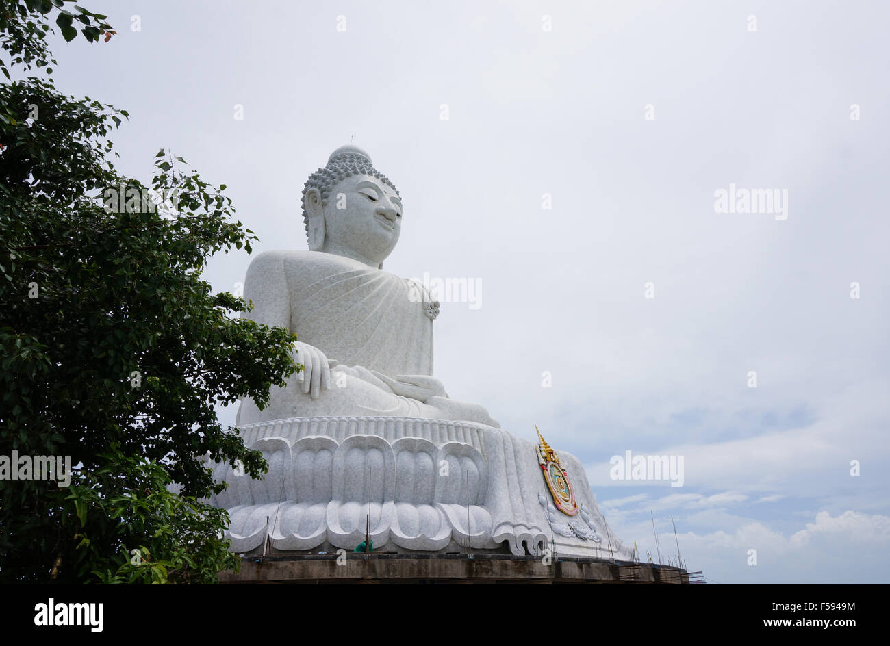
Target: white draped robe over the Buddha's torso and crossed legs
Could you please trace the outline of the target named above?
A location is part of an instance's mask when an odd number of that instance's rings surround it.
[[[405,416],[489,424],[498,427],[476,404],[450,399],[444,392],[420,399],[393,391],[400,375],[433,375],[431,300],[419,283],[374,269],[350,258],[321,252],[282,256],[287,294],[270,294],[247,274],[245,293],[286,298],[289,329],[333,359],[330,388],[317,399],[301,389],[300,375],[285,388],[273,387],[260,410],[251,400],[239,408],[238,424],[306,416]],[[266,321],[260,320],[264,323]],[[300,361],[299,353],[296,361]],[[336,362],[336,363],[335,363]]]

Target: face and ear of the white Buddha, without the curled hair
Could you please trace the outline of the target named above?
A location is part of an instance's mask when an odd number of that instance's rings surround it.
[[[324,206],[307,204],[311,222],[313,210],[324,217],[320,251],[374,267],[382,264],[401,233],[401,199],[395,190],[372,175],[354,174],[337,182],[326,201]]]

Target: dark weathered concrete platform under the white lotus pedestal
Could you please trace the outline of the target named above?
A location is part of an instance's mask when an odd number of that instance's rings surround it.
[[[339,561],[338,561],[339,558]],[[651,563],[513,554],[362,553],[245,557],[226,584],[689,584],[683,569]]]

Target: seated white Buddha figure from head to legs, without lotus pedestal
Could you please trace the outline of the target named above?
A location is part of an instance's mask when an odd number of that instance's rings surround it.
[[[310,250],[259,254],[244,285],[250,319],[298,335],[303,371],[273,388],[263,410],[245,400],[238,424],[358,415],[499,427],[481,406],[451,400],[433,377],[439,303],[382,269],[402,215],[398,190],[355,146],[336,149],[312,174],[303,190]]]

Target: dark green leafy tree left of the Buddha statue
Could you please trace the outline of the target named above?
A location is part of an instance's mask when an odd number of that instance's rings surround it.
[[[214,581],[239,561],[227,514],[199,502],[223,489],[204,460],[267,468],[214,404],[268,402],[300,368],[295,335],[232,318],[250,305],[201,279],[257,239],[225,185],[163,149],[150,187],[119,174],[108,137],[126,111],[56,91],[53,15],[69,41],[74,24],[114,35],[65,4],[0,6],[0,70],[46,74],[0,89],[0,580]],[[69,487],[9,480],[13,451],[70,456]]]

